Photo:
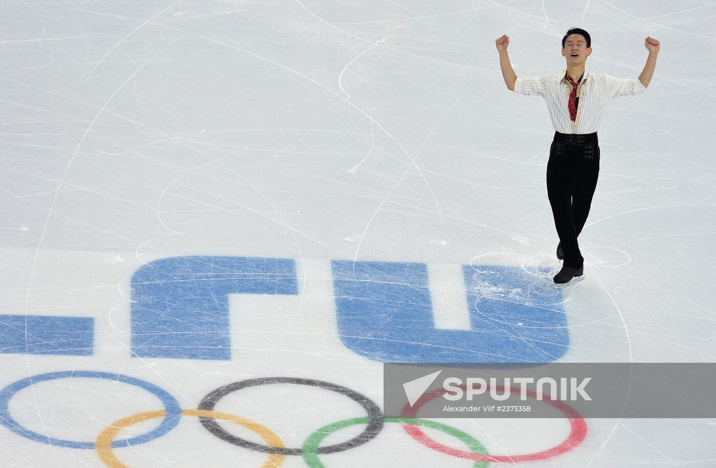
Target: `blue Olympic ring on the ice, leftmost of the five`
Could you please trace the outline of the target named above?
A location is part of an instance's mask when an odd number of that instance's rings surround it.
[[[37,432],[31,431],[26,427],[19,424],[15,419],[10,416],[10,400],[20,390],[25,389],[33,384],[39,382],[54,380],[54,379],[67,379],[69,377],[85,377],[89,379],[107,379],[121,382],[122,384],[130,384],[145,389],[150,393],[157,396],[166,409],[166,416],[162,423],[155,429],[142,434],[141,436],[132,437],[131,439],[120,439],[112,443],[112,448],[117,447],[128,447],[135,444],[143,444],[150,442],[150,440],[162,437],[164,434],[174,429],[179,424],[181,418],[181,407],[179,402],[171,396],[167,391],[160,387],[150,384],[147,381],[136,379],[135,377],[125,376],[122,374],[110,374],[109,372],[97,372],[97,371],[62,371],[62,372],[49,372],[48,374],[38,374],[37,376],[27,377],[21,379],[6,386],[0,391],[0,424],[10,429],[15,434],[19,434],[27,439],[34,440],[36,442],[42,442],[43,444],[57,445],[59,447],[68,447],[70,449],[95,449],[95,442],[75,442],[72,440],[55,439],[54,437],[47,437]]]

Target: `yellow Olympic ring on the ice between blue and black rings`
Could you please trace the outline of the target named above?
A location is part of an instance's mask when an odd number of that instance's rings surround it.
[[[127,468],[127,465],[120,462],[117,457],[115,457],[114,452],[112,452],[112,442],[115,440],[115,437],[117,437],[117,434],[119,434],[119,432],[127,426],[147,421],[147,419],[163,418],[165,414],[166,411],[163,409],[160,411],[147,411],[146,413],[135,414],[134,416],[120,419],[119,421],[115,421],[107,426],[102,432],[100,432],[95,444],[97,447],[97,454],[100,455],[102,462],[105,462],[107,467],[110,468]],[[274,434],[271,429],[261,426],[261,424],[250,421],[249,419],[234,416],[233,414],[221,413],[219,411],[208,411],[205,409],[183,409],[181,410],[181,414],[184,416],[202,416],[205,418],[216,418],[221,419],[222,421],[233,422],[234,424],[244,426],[246,429],[256,432],[256,434],[261,436],[261,438],[266,441],[266,444],[269,444],[271,447],[278,447],[280,449],[286,447],[284,446],[284,442],[281,442],[279,436]],[[261,468],[278,468],[281,466],[281,463],[284,462],[285,458],[286,455],[284,454],[271,454],[269,455],[269,458],[266,459],[266,463],[261,465]]]

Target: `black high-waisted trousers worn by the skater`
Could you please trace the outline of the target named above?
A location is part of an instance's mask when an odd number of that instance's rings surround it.
[[[564,250],[564,265],[574,268],[584,265],[577,236],[589,215],[598,178],[596,132],[586,135],[555,132],[547,163],[547,195]]]

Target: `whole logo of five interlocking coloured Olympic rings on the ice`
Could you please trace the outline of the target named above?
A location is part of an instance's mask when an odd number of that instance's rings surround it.
[[[77,442],[67,439],[47,437],[43,434],[39,434],[30,429],[27,429],[26,427],[19,424],[11,416],[9,411],[9,404],[11,399],[15,394],[17,394],[17,392],[44,381],[68,378],[107,379],[110,381],[117,381],[120,383],[137,386],[140,389],[149,391],[151,394],[157,396],[158,399],[165,406],[165,409],[135,414],[133,416],[128,416],[126,418],[120,419],[119,421],[115,421],[114,423],[110,424],[110,426],[107,426],[105,429],[103,429],[102,432],[100,432],[95,442]],[[240,416],[234,416],[233,414],[226,414],[219,411],[214,411],[214,407],[216,406],[218,401],[228,394],[253,386],[271,384],[311,386],[320,389],[326,389],[329,391],[334,391],[338,394],[347,396],[349,399],[352,399],[357,404],[362,406],[367,416],[345,419],[343,421],[337,421],[333,424],[323,426],[317,429],[311,435],[309,435],[309,437],[306,438],[302,447],[287,448],[284,446],[284,443],[281,441],[280,437],[266,426],[258,424],[255,421],[242,418]],[[519,391],[519,389],[508,390]],[[120,460],[115,455],[113,449],[143,444],[145,442],[150,442],[154,439],[157,439],[158,437],[162,437],[164,434],[167,434],[168,432],[170,432],[170,430],[174,429],[177,424],[179,424],[181,416],[196,416],[201,421],[203,427],[219,439],[222,439],[225,442],[236,445],[238,447],[242,447],[244,449],[250,449],[254,452],[261,452],[267,454],[268,456],[266,458],[266,462],[264,462],[264,464],[262,465],[263,468],[275,468],[281,466],[281,463],[284,462],[284,459],[288,455],[303,457],[304,462],[306,462],[306,465],[308,465],[309,468],[324,468],[325,465],[321,462],[319,455],[344,452],[354,447],[359,447],[362,444],[366,444],[367,442],[370,442],[372,439],[375,439],[378,436],[378,434],[382,431],[385,423],[402,424],[402,427],[405,432],[409,434],[413,439],[417,440],[417,442],[420,442],[426,447],[429,447],[430,449],[436,450],[437,452],[442,452],[453,457],[473,460],[475,462],[473,464],[473,468],[487,467],[490,462],[534,462],[537,460],[556,457],[558,455],[569,452],[571,449],[574,449],[579,444],[581,444],[581,442],[586,437],[586,421],[584,421],[584,418],[582,418],[576,410],[561,401],[546,400],[546,404],[551,404],[556,409],[562,411],[563,414],[565,414],[565,416],[569,418],[569,422],[571,425],[571,432],[569,434],[569,437],[567,437],[564,442],[558,444],[556,447],[545,450],[543,452],[536,452],[533,454],[519,454],[513,456],[492,456],[488,454],[487,449],[485,449],[483,444],[481,444],[470,434],[467,434],[466,432],[463,432],[455,427],[448,426],[447,424],[441,424],[437,421],[431,421],[429,419],[420,419],[416,417],[417,412],[420,410],[420,407],[422,405],[432,399],[437,398],[437,396],[440,396],[440,394],[442,393],[445,392],[433,391],[430,394],[425,394],[412,408],[406,407],[402,411],[402,416],[405,417],[386,418],[384,417],[382,410],[374,401],[369,399],[367,396],[359,393],[358,391],[349,389],[347,387],[314,379],[301,379],[296,377],[267,377],[263,379],[248,379],[222,386],[216,390],[209,392],[198,404],[198,409],[182,409],[180,407],[179,402],[174,398],[174,396],[169,394],[167,391],[161,389],[160,387],[156,386],[155,384],[150,384],[149,382],[144,381],[142,379],[125,376],[122,374],[111,374],[108,372],[100,371],[60,371],[27,377],[26,379],[16,381],[13,384],[10,384],[4,389],[0,390],[0,424],[10,429],[15,434],[20,435],[21,437],[32,439],[36,442],[41,442],[43,444],[51,444],[59,447],[68,447],[74,449],[95,449],[100,457],[100,460],[102,460],[102,462],[104,462],[107,467],[111,468],[126,466],[125,464],[122,464],[122,462],[120,462]],[[536,394],[529,394],[529,396],[534,398]],[[130,439],[116,439],[117,435],[122,431],[122,429],[132,426],[133,424],[138,424],[142,421],[157,418],[162,418],[162,421],[157,427],[155,427],[155,429],[151,430],[150,432],[147,432],[137,437],[132,437]],[[261,439],[266,442],[266,444],[256,444],[254,442],[249,442],[245,439],[236,437],[233,434],[229,434],[228,432],[226,432],[226,430],[224,430],[221,426],[218,425],[217,420],[228,421],[233,424],[243,426],[246,429],[249,429],[252,432],[258,434],[258,436],[260,436]],[[353,439],[350,439],[347,442],[342,442],[340,444],[321,447],[321,442],[330,434],[337,432],[340,429],[359,424],[366,424],[366,428],[363,430],[363,432],[361,432]],[[463,442],[463,444],[465,444],[470,449],[470,452],[453,449],[446,445],[440,444],[433,439],[430,439],[430,437],[427,437],[427,435],[422,432],[422,429],[420,429],[419,426],[425,426],[430,429],[435,429],[437,431],[453,436],[455,439],[458,439],[460,442]]]

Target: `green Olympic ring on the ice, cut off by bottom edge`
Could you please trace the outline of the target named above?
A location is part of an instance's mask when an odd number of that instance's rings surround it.
[[[344,419],[343,421],[334,422],[333,424],[321,427],[321,429],[318,429],[316,432],[311,434],[308,439],[306,439],[306,442],[304,442],[304,446],[301,447],[301,454],[304,457],[304,462],[306,462],[309,468],[326,468],[326,465],[321,463],[321,460],[318,457],[318,447],[323,439],[340,429],[355,426],[357,424],[368,424],[369,421],[370,419],[367,417],[359,417]],[[467,432],[460,431],[460,429],[452,426],[430,421],[429,419],[419,418],[385,418],[384,421],[400,422],[402,424],[416,424],[417,426],[426,426],[431,429],[437,429],[438,431],[445,432],[445,434],[453,436],[456,439],[460,439],[476,454],[488,454],[487,449],[485,449],[483,444],[480,444],[478,439],[475,439],[475,437],[471,436]],[[487,468],[489,465],[490,462],[475,462],[475,464],[473,464],[473,468]]]

